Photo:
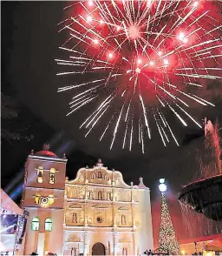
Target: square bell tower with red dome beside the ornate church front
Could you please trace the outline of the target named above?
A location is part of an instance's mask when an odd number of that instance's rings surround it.
[[[63,203],[67,159],[49,151],[32,151],[25,164],[22,205],[29,212],[24,254],[62,255]]]

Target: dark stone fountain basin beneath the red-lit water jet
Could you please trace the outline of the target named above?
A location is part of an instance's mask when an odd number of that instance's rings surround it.
[[[181,203],[192,206],[195,212],[208,219],[222,219],[222,175],[199,179],[184,186],[179,198]]]

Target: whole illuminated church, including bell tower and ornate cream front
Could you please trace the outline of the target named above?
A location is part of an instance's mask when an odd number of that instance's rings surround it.
[[[153,249],[150,191],[101,164],[65,177],[66,158],[49,147],[29,155],[23,206],[24,254],[140,255]]]

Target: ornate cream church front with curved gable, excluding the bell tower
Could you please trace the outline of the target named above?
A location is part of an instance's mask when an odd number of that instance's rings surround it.
[[[125,184],[121,172],[81,169],[66,182],[64,207],[64,255],[91,255],[95,243],[106,255],[153,249],[149,190]]]

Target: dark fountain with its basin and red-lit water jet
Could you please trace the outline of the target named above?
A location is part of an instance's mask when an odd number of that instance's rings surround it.
[[[217,125],[205,121],[206,151],[213,150],[214,161],[202,165],[202,178],[184,186],[179,194],[182,204],[190,205],[195,212],[204,214],[208,219],[222,219],[222,154]],[[207,161],[209,159],[203,159]]]

